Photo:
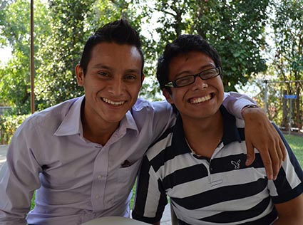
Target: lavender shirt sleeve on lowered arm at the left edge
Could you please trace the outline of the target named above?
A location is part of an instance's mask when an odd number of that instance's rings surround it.
[[[0,177],[0,224],[26,224],[34,190],[40,187],[41,167],[27,145],[35,137],[21,125],[11,140]]]

